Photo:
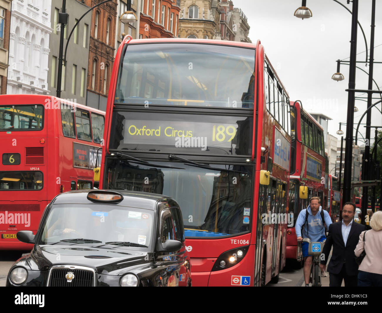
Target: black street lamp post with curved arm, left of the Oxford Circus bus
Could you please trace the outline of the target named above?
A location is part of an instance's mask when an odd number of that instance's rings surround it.
[[[68,49],[68,44],[70,37],[72,33],[74,32],[74,29],[78,25],[79,21],[84,18],[84,16],[92,11],[94,8],[97,6],[100,6],[106,2],[113,1],[113,0],[105,0],[100,3],[97,3],[96,5],[92,6],[89,10],[87,10],[77,21],[76,24],[74,24],[74,27],[72,28],[68,39],[66,41],[66,46],[65,46],[65,55],[63,56],[63,47],[64,47],[64,32],[63,29],[66,27],[66,24],[68,23],[68,13],[66,13],[66,0],[62,0],[62,8],[61,8],[61,13],[58,15],[58,22],[61,24],[60,28],[60,51],[59,51],[59,57],[58,57],[58,70],[57,70],[57,92],[56,96],[61,97],[61,76],[62,76],[62,65],[66,65],[66,51]],[[137,20],[137,16],[134,14],[133,11],[131,11],[131,0],[127,0],[127,11],[124,12],[120,17],[120,21],[123,23],[133,23]],[[139,29],[139,25],[137,26]]]

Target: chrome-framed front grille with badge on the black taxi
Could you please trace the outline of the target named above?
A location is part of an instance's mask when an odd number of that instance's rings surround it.
[[[73,272],[74,278],[68,282],[65,278],[68,272]],[[50,287],[93,287],[94,273],[84,269],[70,268],[52,268],[50,269],[49,283]]]

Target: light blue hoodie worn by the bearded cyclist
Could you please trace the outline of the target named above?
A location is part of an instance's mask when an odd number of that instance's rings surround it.
[[[306,210],[308,210],[308,224],[305,224],[303,229],[303,236],[301,236],[301,227],[303,227],[305,223]],[[300,214],[298,214],[296,221],[296,235],[297,237],[309,238],[312,242],[318,241],[322,236],[325,235],[325,228],[321,220],[321,210],[320,206],[316,215],[312,214],[310,204],[308,208],[301,210]],[[332,224],[332,220],[330,219],[329,213],[324,210],[324,220],[326,223],[326,228],[329,229],[329,225]],[[309,229],[308,229],[309,228]]]

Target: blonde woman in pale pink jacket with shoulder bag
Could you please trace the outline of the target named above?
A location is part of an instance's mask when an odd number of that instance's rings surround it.
[[[361,232],[354,250],[357,257],[366,253],[358,269],[358,287],[382,287],[382,211],[374,213],[369,224],[371,229]]]

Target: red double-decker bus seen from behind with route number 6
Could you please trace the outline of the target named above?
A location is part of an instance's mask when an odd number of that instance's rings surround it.
[[[36,234],[58,193],[93,188],[104,121],[105,112],[53,96],[0,96],[0,249],[31,249],[19,230]]]

